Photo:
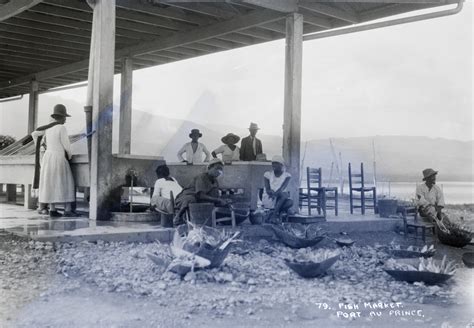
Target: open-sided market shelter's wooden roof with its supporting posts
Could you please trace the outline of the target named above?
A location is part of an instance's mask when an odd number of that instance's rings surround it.
[[[445,5],[429,14],[364,25]],[[39,93],[88,81],[84,104],[88,132],[94,132],[86,179],[90,218],[105,218],[120,158],[131,163],[123,167],[146,166],[150,160],[128,155],[133,70],[285,38],[283,156],[298,181],[303,40],[441,17],[461,8],[462,1],[455,0],[2,0],[0,100],[30,95],[30,133],[36,127]],[[112,155],[116,73],[122,74],[119,156]],[[297,188],[293,183],[294,197]]]

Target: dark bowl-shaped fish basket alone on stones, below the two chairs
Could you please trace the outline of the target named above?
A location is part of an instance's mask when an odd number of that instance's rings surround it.
[[[285,264],[303,278],[316,278],[326,274],[338,259],[339,252],[325,249],[304,257],[285,259]]]

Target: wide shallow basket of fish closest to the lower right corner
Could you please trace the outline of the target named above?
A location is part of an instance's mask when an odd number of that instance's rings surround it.
[[[446,261],[446,256],[442,261],[433,258],[390,259],[385,262],[384,270],[396,280],[436,285],[451,278],[456,272],[456,265],[454,261]]]

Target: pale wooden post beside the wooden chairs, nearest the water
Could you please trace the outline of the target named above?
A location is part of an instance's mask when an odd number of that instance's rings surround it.
[[[302,61],[303,15],[293,13],[286,18],[283,157],[292,175],[289,190],[294,210],[299,203]]]

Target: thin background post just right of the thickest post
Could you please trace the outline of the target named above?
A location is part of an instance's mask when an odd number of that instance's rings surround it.
[[[133,60],[122,60],[122,78],[120,83],[119,153],[130,154],[132,136],[132,83]]]

